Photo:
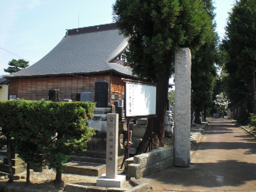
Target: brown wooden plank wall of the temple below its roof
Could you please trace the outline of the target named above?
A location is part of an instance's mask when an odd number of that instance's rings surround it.
[[[94,100],[95,82],[98,80],[108,82],[108,101],[111,104],[114,104],[114,100],[110,99],[112,94],[118,95],[120,99],[124,93],[124,83],[120,77],[111,75],[10,79],[9,95],[16,94],[17,98],[25,100],[48,100],[48,91],[58,89],[61,100],[71,99],[72,94],[76,95],[83,91],[92,92]]]

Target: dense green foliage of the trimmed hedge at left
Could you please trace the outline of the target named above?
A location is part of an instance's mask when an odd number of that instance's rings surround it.
[[[95,103],[0,101],[2,135],[11,136],[26,163],[48,165],[62,172],[70,154],[86,150],[94,130],[86,124]]]

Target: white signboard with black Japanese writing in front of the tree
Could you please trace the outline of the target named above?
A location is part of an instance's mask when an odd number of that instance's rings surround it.
[[[156,115],[156,85],[125,83],[125,117]]]

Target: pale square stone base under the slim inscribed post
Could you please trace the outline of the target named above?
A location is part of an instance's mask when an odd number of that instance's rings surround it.
[[[117,175],[115,179],[106,178],[106,174],[102,174],[101,177],[97,179],[97,186],[99,187],[115,187],[121,188],[125,182],[125,175]]]

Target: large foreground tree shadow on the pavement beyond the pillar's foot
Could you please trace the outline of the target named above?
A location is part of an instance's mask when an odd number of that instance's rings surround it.
[[[234,175],[236,175],[234,177]],[[182,186],[240,186],[256,180],[256,164],[235,160],[217,163],[196,163],[189,168],[171,167],[146,179],[158,180],[162,184]],[[150,180],[149,180],[150,182]]]

